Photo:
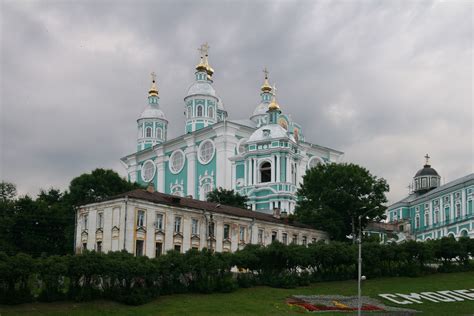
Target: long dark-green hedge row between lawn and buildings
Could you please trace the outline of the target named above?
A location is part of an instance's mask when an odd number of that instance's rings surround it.
[[[363,244],[363,273],[419,276],[472,270],[474,240],[443,238],[400,245]],[[240,273],[232,273],[232,267]],[[0,253],[0,303],[107,298],[131,305],[172,293],[230,292],[238,287],[295,287],[310,282],[356,278],[357,246],[314,243],[248,245],[231,253],[207,249],[170,251],[155,259],[127,252],[85,252],[76,256],[32,258]]]

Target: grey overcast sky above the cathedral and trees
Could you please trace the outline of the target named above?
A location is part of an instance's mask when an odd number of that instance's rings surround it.
[[[203,42],[231,119],[251,115],[267,66],[306,140],[386,178],[391,202],[426,153],[443,181],[473,172],[469,1],[0,4],[0,178],[21,194],[97,167],[125,175],[152,71],[182,134]]]

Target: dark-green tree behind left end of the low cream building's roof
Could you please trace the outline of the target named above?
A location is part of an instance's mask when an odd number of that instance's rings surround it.
[[[110,169],[95,169],[72,179],[66,199],[73,206],[98,202],[110,196],[141,188]]]

